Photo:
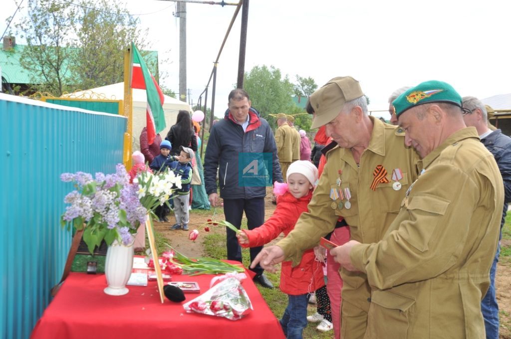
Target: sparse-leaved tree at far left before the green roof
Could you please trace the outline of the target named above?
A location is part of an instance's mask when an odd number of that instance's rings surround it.
[[[31,75],[32,90],[48,91],[60,96],[65,90],[72,51],[75,10],[59,0],[29,0],[28,16],[15,27],[22,32],[27,46],[20,55],[20,64]]]

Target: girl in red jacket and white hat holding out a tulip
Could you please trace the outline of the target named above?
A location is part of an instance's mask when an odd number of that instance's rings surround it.
[[[287,190],[277,196],[277,208],[266,223],[253,230],[242,230],[238,241],[242,247],[263,246],[281,232],[288,235],[312,198],[312,190],[318,179],[318,170],[310,161],[293,162],[287,171]],[[307,326],[307,303],[310,294],[324,285],[323,269],[314,260],[312,249],[304,252],[301,261],[291,267],[291,261],[282,263],[281,290],[288,295],[288,306],[280,320],[287,338],[301,338]]]

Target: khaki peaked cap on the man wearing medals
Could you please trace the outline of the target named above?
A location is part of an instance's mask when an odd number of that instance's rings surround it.
[[[347,102],[364,95],[360,84],[352,77],[336,77],[311,95],[311,106],[316,113],[311,128],[330,123]]]

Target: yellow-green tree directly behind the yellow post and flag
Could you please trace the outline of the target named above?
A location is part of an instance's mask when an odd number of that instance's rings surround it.
[[[78,0],[77,0],[78,1]],[[101,0],[81,0],[75,20],[78,39],[73,44],[72,71],[80,88],[94,88],[123,81],[124,50],[134,42],[138,50],[147,44],[141,37],[147,35],[137,28],[138,19],[129,15],[119,3]],[[158,79],[157,60],[146,58],[151,74]],[[156,64],[155,64],[156,62]]]

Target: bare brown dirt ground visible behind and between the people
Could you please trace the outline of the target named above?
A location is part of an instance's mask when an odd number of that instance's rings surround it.
[[[267,220],[275,210],[275,205],[271,203],[271,188],[268,188],[267,197],[265,198],[265,220]],[[197,229],[199,236],[195,241],[188,239],[189,232],[186,231],[171,231],[169,228],[174,224],[173,216],[170,215],[169,223],[154,223],[156,230],[161,232],[173,247],[179,252],[190,257],[203,256],[204,253],[204,237],[207,234],[204,231],[205,223],[208,219],[215,221],[225,220],[223,214],[223,208],[217,207],[216,214],[213,216],[213,210],[211,213],[204,211],[192,212],[190,215],[190,230]],[[211,232],[223,232],[219,228],[210,227]],[[278,240],[278,239],[277,239]],[[275,240],[276,241],[276,240]],[[502,240],[502,247],[511,245],[511,240]],[[503,264],[499,262],[497,267],[497,277],[495,282],[497,288],[497,300],[499,303],[499,309],[501,313],[501,323],[507,324],[503,327],[501,324],[500,338],[511,339],[511,263]]]

